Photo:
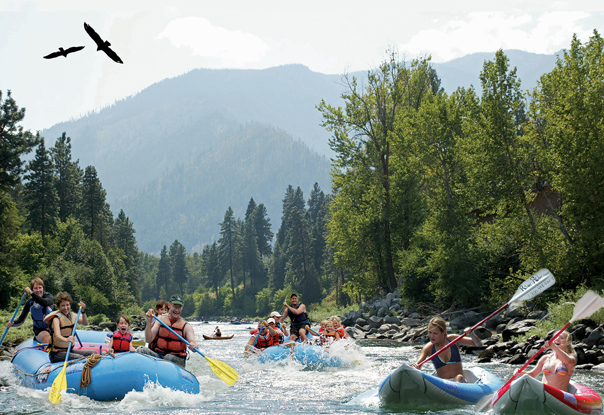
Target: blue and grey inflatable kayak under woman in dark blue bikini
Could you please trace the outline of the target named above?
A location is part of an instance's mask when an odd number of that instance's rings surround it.
[[[464,369],[463,374],[467,383],[441,379],[403,363],[379,388],[358,398],[368,399],[373,394],[383,405],[468,405],[495,393],[502,385],[497,376],[481,367]]]

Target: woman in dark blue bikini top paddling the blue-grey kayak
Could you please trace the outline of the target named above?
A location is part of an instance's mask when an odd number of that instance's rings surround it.
[[[439,378],[466,383],[466,378],[463,376],[463,367],[461,366],[461,354],[457,344],[478,347],[482,346],[483,342],[474,334],[471,328],[466,328],[464,333],[468,337],[462,338],[432,359]],[[458,334],[447,334],[447,325],[442,317],[434,317],[430,320],[428,324],[428,336],[430,341],[422,347],[422,353],[417,358],[417,362],[413,364],[413,367],[416,369],[419,369],[418,365],[426,360],[428,356],[433,355],[437,350],[442,349],[446,344],[451,343],[452,340],[459,337]]]

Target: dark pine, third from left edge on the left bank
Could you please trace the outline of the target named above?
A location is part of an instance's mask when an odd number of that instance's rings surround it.
[[[50,149],[57,176],[56,188],[59,196],[59,219],[65,222],[71,215],[77,217],[82,200],[82,169],[79,160],[71,160],[71,138],[63,133]]]

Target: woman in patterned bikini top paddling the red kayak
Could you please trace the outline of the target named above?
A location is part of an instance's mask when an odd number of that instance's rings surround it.
[[[568,331],[562,332],[553,342],[546,341],[545,348],[553,353],[542,356],[530,372],[519,372],[520,375],[529,375],[533,378],[543,373],[542,382],[556,389],[568,391],[570,377],[573,375],[574,366],[577,364],[577,355],[574,352],[573,339]]]

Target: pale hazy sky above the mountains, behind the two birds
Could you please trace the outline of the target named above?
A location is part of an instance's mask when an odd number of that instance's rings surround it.
[[[434,62],[498,49],[553,54],[573,34],[602,33],[603,17],[604,2],[588,1],[0,0],[0,90],[35,131],[195,68],[301,63],[341,74],[375,68],[388,50]],[[95,50],[84,22],[123,65]],[[42,59],[71,46],[85,48]]]

